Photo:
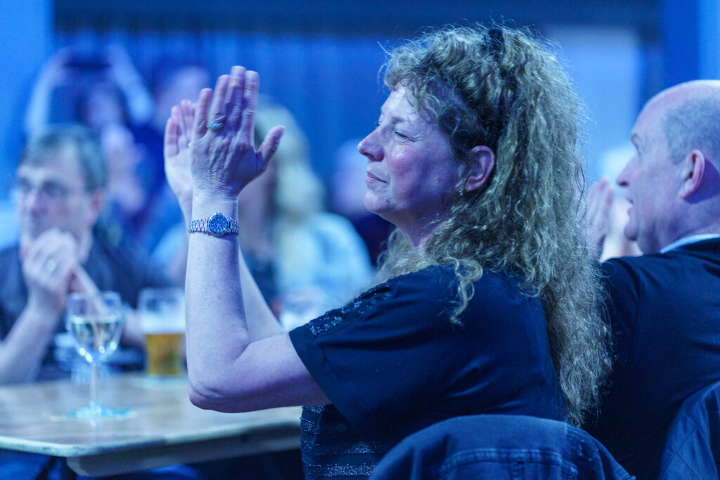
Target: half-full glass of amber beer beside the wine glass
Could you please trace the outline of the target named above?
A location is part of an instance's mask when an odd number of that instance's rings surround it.
[[[185,296],[181,288],[143,289],[138,297],[145,335],[145,371],[154,377],[185,374]]]

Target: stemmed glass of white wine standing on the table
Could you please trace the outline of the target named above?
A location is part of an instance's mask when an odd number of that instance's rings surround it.
[[[114,410],[98,402],[100,364],[117,348],[122,332],[122,301],[115,291],[68,296],[66,328],[75,348],[91,366],[90,403],[68,417],[117,417],[129,410]]]

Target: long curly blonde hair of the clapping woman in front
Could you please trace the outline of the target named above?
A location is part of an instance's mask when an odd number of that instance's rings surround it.
[[[580,425],[611,366],[610,334],[578,217],[583,111],[562,65],[528,30],[446,27],[392,50],[384,83],[402,83],[434,115],[458,163],[475,145],[496,161],[482,190],[454,196],[423,251],[395,230],[378,279],[453,265],[459,322],[485,268],[519,274],[523,292],[541,299],[567,420]]]

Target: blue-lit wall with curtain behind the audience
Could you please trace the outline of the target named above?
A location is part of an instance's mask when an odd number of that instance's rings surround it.
[[[495,20],[529,25],[559,54],[590,115],[588,158],[626,138],[639,107],[665,86],[717,76],[716,0],[292,1],[0,0],[0,166],[14,169],[22,113],[42,61],[59,47],[115,42],[141,71],[163,55],[213,75],[240,63],[286,104],[323,178],[337,148],[377,119],[383,47],[422,27]],[[613,86],[616,81],[617,86]],[[615,94],[613,95],[613,89]]]

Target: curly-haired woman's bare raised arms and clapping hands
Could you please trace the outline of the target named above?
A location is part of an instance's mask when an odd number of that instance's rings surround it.
[[[192,171],[192,185],[174,186],[181,204],[188,199],[188,189],[192,192],[183,208],[186,219],[216,212],[234,218],[240,190],[267,167],[283,128],[271,130],[260,148],[254,148],[257,90],[257,74],[234,67],[230,76],[218,79],[215,94],[210,89],[200,93],[191,125],[180,117],[180,109],[168,121],[168,181],[182,163]],[[186,132],[180,122],[189,127]],[[213,130],[208,122],[224,127]],[[175,145],[168,145],[173,139]],[[188,143],[192,155],[184,152]],[[181,153],[189,158],[176,162]],[[258,319],[272,316],[238,249],[238,235],[189,235],[185,288],[192,402],[227,412],[327,403],[287,334],[257,340],[269,330],[268,322]]]

